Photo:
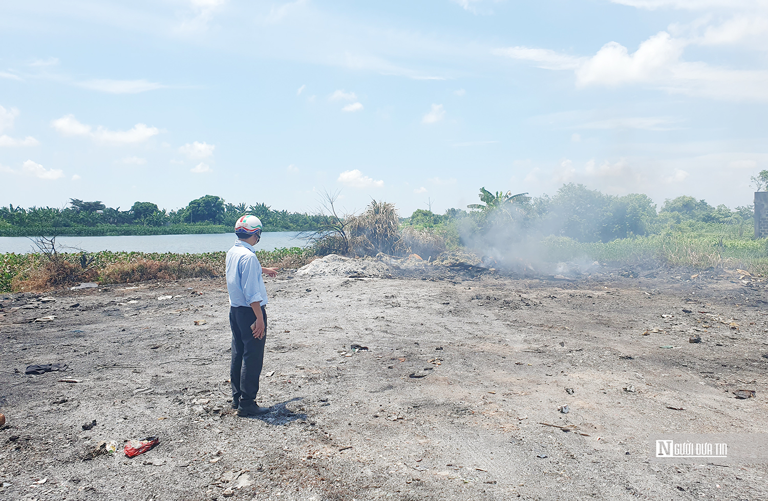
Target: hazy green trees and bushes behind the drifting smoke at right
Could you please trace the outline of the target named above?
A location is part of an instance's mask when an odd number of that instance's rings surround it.
[[[564,184],[554,196],[528,197],[527,193],[491,193],[482,188],[482,204],[448,209],[444,214],[417,209],[406,225],[417,228],[458,226],[463,238],[489,236],[500,231],[541,236],[567,236],[579,242],[610,242],[632,236],[700,231],[713,225],[733,225],[749,232],[753,206],[711,206],[693,196],[666,199],[660,209],[649,196],[631,193],[613,196],[581,184]]]

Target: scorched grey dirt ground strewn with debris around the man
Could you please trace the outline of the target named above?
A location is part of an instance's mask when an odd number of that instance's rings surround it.
[[[768,431],[760,279],[313,270],[267,279],[263,419],[230,408],[223,279],[0,295],[0,498],[768,499],[766,465],[648,454],[649,433]]]

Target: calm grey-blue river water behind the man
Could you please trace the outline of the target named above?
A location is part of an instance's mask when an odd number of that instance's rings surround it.
[[[256,249],[273,250],[283,247],[303,247],[306,240],[298,238],[299,232],[264,232]],[[234,233],[209,233],[205,235],[150,235],[150,236],[59,236],[56,247],[59,252],[200,252],[226,251],[237,237]],[[0,237],[0,253],[38,252],[35,244],[25,236]]]

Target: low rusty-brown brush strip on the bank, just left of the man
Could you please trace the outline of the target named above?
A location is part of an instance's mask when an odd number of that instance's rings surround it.
[[[183,264],[181,262],[139,259],[107,265],[101,272],[101,282],[127,284],[147,282],[148,280],[198,279],[215,275],[214,269],[203,262]]]

